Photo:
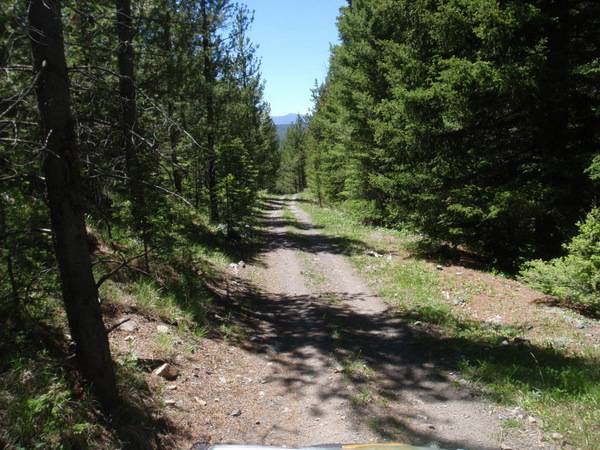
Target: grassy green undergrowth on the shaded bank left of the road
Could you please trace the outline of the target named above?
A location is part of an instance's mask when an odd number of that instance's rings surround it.
[[[87,218],[96,280],[114,271],[99,288],[107,327],[135,314],[174,326],[175,335],[159,336],[155,342],[155,354],[164,358],[175,350],[193,350],[184,337],[213,333],[234,339],[240,330],[222,312],[226,306],[221,287],[227,282],[227,266],[250,261],[259,248],[259,239],[252,234],[256,227],[244,227],[248,235],[231,242],[194,211],[174,208],[173,215],[162,220],[150,245],[144,245],[139,233],[120,225],[119,217],[110,226]],[[161,427],[168,426],[153,419],[160,416],[153,412],[161,405],[145,383],[149,368],[140,363],[134,346],[129,354],[113,354],[125,401],[122,410],[104,416],[78,376],[56,275],[56,270],[40,269],[39,277],[44,278],[30,289],[20,318],[3,318],[0,447],[148,445]]]

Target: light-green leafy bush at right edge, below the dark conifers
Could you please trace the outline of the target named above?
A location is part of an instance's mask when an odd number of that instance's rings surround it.
[[[579,234],[564,245],[566,256],[530,261],[521,277],[546,294],[600,312],[600,210],[577,226]]]

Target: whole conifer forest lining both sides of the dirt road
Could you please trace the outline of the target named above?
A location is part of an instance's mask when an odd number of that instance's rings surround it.
[[[260,245],[264,192],[307,191],[600,311],[598,2],[349,0],[312,111],[281,142],[243,4],[1,4],[6,383],[79,386],[72,339],[115,411],[124,369],[98,299],[152,279],[201,328],[202,258]],[[22,408],[6,398],[0,423]]]

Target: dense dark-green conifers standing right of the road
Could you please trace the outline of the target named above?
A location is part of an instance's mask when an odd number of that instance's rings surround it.
[[[597,192],[599,21],[593,1],[349,2],[310,188],[509,269],[560,255]]]

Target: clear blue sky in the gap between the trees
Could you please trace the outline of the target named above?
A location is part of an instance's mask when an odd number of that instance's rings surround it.
[[[272,116],[305,113],[315,79],[327,75],[336,18],[346,0],[241,0],[254,11],[249,38],[258,45],[265,101]]]

